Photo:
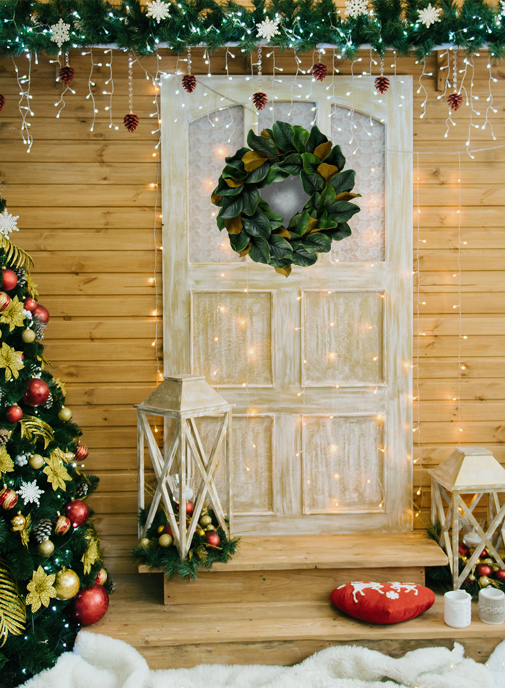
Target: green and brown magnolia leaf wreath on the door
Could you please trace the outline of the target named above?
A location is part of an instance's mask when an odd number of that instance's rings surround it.
[[[307,129],[274,122],[257,136],[247,135],[249,148],[241,148],[220,175],[212,203],[220,207],[219,230],[227,229],[229,243],[240,256],[271,265],[288,277],[291,264],[313,265],[318,253],[330,250],[331,241],[349,237],[347,224],[359,206],[349,203],[354,170],[345,170],[340,146],[333,146],[318,127]],[[260,196],[260,189],[299,176],[309,200],[302,211],[285,223]],[[287,226],[285,226],[287,224]]]

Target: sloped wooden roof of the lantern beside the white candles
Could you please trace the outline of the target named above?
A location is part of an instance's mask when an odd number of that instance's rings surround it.
[[[451,492],[505,491],[505,469],[484,447],[455,447],[428,473]]]

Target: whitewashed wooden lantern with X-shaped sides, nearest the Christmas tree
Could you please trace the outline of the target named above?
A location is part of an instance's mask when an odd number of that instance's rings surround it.
[[[152,504],[143,528],[139,527],[139,539],[145,537],[147,528],[153,522],[160,499],[167,513],[169,525],[174,535],[174,544],[181,559],[187,557],[198,518],[208,497],[214,509],[218,524],[227,537],[231,533],[231,407],[215,389],[205,382],[203,376],[178,375],[165,377],[163,383],[137,409],[138,445],[138,506],[144,508],[144,440],[152,460],[158,484],[154,491]],[[165,437],[163,456],[154,438],[147,415],[163,416]],[[214,446],[207,456],[196,428],[195,419],[202,416],[220,416]],[[167,418],[174,418],[175,429],[169,433]],[[225,443],[226,495],[225,508],[214,485],[214,475],[218,467],[218,454]],[[200,484],[194,500],[191,521],[186,523],[185,505],[189,495],[193,495],[192,481],[199,474]],[[171,496],[172,495],[172,496]],[[174,502],[180,505],[179,523],[176,522],[177,510]]]

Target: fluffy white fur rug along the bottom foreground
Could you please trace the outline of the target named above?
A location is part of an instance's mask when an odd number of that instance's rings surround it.
[[[198,665],[151,670],[136,649],[81,631],[62,654],[23,688],[505,688],[505,641],[486,665],[464,647],[427,647],[393,659],[355,645],[329,647],[293,667]]]

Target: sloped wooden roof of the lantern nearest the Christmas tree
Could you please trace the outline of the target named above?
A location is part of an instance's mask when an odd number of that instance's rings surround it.
[[[138,411],[159,416],[201,415],[202,412],[229,411],[229,404],[205,381],[203,375],[174,375],[163,382],[136,405]]]

